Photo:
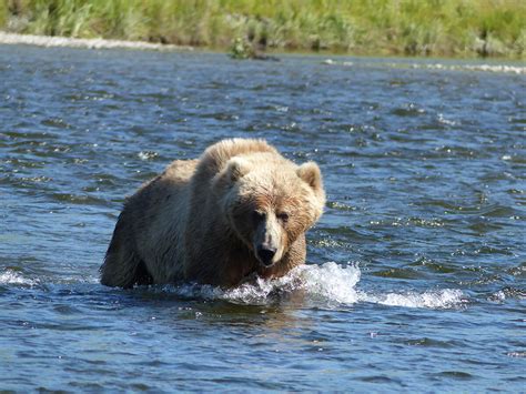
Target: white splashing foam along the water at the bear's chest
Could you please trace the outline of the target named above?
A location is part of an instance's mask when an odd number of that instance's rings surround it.
[[[221,289],[211,285],[182,284],[164,286],[168,291],[185,297],[206,300],[225,300],[240,304],[264,305],[280,294],[302,292],[305,300],[316,305],[352,305],[358,302],[377,303],[391,306],[447,309],[465,303],[465,295],[459,290],[442,289],[435,291],[401,292],[374,294],[356,290],[361,279],[357,265],[340,265],[328,262],[323,265],[303,265],[287,275],[263,280],[257,277],[233,289]]]

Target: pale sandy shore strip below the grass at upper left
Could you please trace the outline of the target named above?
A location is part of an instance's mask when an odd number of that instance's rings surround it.
[[[28,44],[38,47],[69,47],[88,49],[146,49],[155,51],[193,50],[192,47],[162,44],[143,41],[122,41],[104,39],[73,39],[68,37],[14,34],[0,31],[0,44]]]

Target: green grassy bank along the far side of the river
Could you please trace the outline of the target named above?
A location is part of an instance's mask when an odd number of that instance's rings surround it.
[[[0,0],[0,29],[227,49],[526,57],[525,0]]]

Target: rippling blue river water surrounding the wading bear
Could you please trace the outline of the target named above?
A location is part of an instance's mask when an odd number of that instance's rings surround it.
[[[442,63],[0,47],[0,388],[524,392],[526,78]],[[100,285],[124,195],[227,137],[320,163],[308,264]]]

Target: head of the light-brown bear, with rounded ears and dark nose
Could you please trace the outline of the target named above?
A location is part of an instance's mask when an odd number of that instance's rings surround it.
[[[322,174],[314,162],[296,165],[275,153],[230,159],[214,188],[234,234],[266,267],[322,215]]]

